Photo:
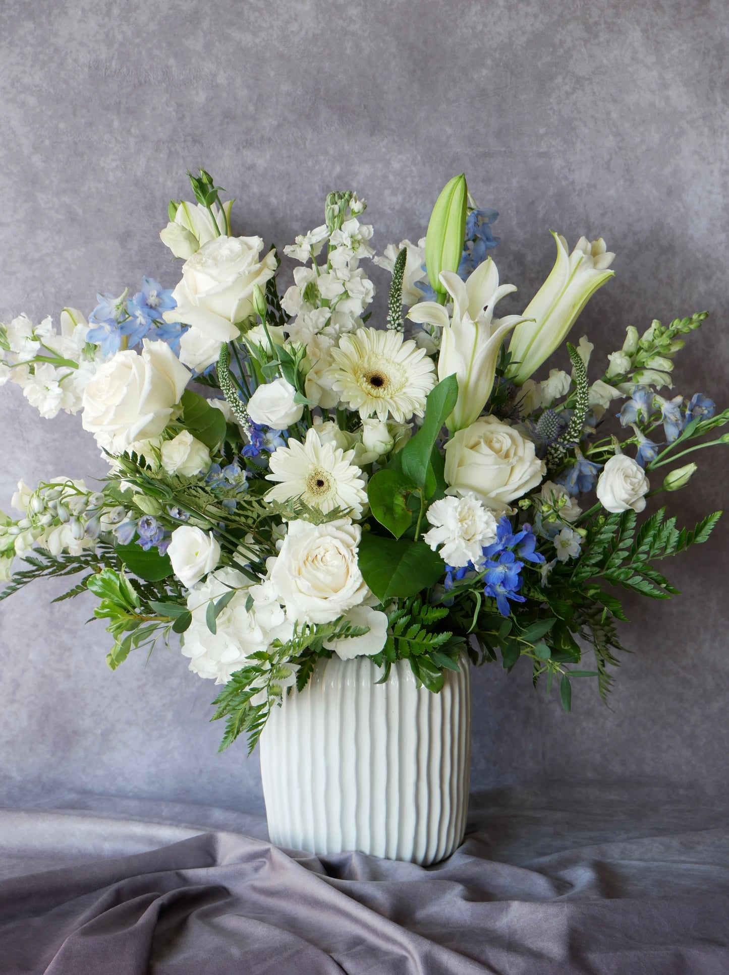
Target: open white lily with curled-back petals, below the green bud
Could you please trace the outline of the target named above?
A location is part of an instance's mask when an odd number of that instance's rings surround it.
[[[452,271],[442,271],[440,281],[453,298],[453,316],[435,301],[421,301],[408,318],[421,325],[442,328],[438,378],[456,373],[458,400],[446,419],[453,433],[469,426],[486,406],[494,385],[499,349],[506,332],[523,322],[520,315],[494,319],[494,307],[514,285],[500,285],[499,272],[491,257],[473,271],[464,283]]]

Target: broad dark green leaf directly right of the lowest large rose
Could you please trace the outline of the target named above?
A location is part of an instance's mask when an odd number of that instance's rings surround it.
[[[359,570],[381,603],[415,596],[445,572],[443,560],[425,542],[384,538],[365,532],[359,543]]]

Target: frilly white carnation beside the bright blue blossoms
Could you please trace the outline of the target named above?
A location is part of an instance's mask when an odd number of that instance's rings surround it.
[[[433,552],[440,545],[438,555],[454,568],[469,562],[477,565],[484,545],[496,541],[496,519],[474,494],[441,498],[430,505],[425,517],[433,527],[423,541]]]

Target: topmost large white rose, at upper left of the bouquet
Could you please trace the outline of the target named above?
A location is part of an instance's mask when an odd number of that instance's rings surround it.
[[[273,252],[259,255],[260,237],[216,237],[182,265],[182,281],[173,292],[177,307],[163,312],[166,322],[182,322],[210,339],[228,342],[238,334],[236,322],[254,314],[254,285],[276,270]]]

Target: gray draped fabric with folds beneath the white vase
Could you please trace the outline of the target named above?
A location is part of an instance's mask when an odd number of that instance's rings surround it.
[[[482,793],[427,869],[281,850],[257,816],[68,805],[0,813],[3,975],[729,971],[719,800]]]

